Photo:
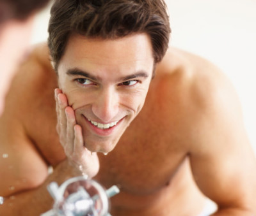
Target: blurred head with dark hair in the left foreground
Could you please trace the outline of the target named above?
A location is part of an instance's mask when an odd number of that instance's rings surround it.
[[[24,59],[35,12],[49,0],[0,0],[0,115],[17,65]]]

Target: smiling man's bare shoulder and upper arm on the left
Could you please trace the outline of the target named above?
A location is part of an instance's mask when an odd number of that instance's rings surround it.
[[[55,140],[55,136],[44,134],[55,124],[51,94],[56,78],[46,59],[44,45],[34,48],[18,69],[6,96],[0,118],[0,152],[6,155],[0,162],[0,175],[4,176],[0,196],[37,187],[47,176],[50,161],[38,143]]]

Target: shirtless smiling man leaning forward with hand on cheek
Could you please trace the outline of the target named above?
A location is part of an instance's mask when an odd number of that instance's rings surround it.
[[[100,164],[95,179],[120,187],[113,216],[196,216],[205,196],[214,215],[255,215],[255,157],[219,69],[175,48],[161,61],[170,29],[160,0],[81,2],[52,8],[56,72],[43,45],[12,83],[0,121],[0,215],[46,212],[46,185],[81,175],[77,164],[90,176]]]

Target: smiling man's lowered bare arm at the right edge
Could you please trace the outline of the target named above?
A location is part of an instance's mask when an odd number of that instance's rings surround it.
[[[256,161],[241,109],[230,84],[221,77],[214,82],[205,83],[204,91],[193,91],[199,111],[191,118],[193,176],[205,196],[218,204],[214,215],[256,215]]]

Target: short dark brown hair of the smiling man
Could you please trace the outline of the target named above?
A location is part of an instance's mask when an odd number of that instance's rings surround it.
[[[73,34],[103,40],[146,33],[154,62],[159,62],[170,39],[169,17],[163,0],[56,0],[51,8],[48,46],[54,69]]]

